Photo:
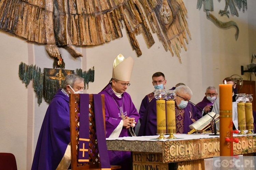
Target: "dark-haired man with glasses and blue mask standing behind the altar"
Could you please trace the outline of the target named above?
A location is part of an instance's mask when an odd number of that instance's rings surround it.
[[[152,99],[154,99],[154,93],[157,89],[165,89],[165,85],[166,85],[166,80],[165,80],[165,74],[163,74],[162,72],[156,72],[152,75],[152,84],[155,88],[155,90],[146,95],[144,97],[144,99],[141,101],[141,105],[140,105],[140,110],[139,110],[139,114],[140,114],[140,122],[142,122],[145,110],[148,106],[148,103],[151,102]]]

